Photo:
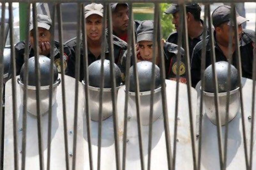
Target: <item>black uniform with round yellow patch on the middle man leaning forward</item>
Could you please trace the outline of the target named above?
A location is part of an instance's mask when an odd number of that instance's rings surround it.
[[[178,45],[165,42],[164,43],[164,59],[165,59],[165,75],[166,79],[168,78],[175,78],[176,77],[176,68],[178,66],[177,62],[177,55],[178,55]],[[125,66],[126,66],[126,54],[127,50],[125,51],[122,60],[121,60],[121,71],[125,75]],[[181,48],[181,62],[180,62],[180,76],[186,76],[186,67],[185,67],[186,57],[185,51]],[[131,59],[131,66],[133,65],[133,60]]]

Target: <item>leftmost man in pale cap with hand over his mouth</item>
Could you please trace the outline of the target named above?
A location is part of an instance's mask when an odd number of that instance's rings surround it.
[[[37,26],[38,26],[38,45],[39,45],[39,54],[44,55],[50,58],[50,50],[54,48],[54,64],[57,66],[58,72],[60,72],[60,43],[54,41],[52,45],[51,41],[51,32],[50,27],[52,26],[52,20],[47,15],[37,14]],[[35,42],[34,42],[34,29],[33,29],[33,21],[31,19],[29,25],[29,58],[33,57]],[[15,45],[15,56],[16,56],[16,75],[20,74],[20,69],[24,63],[24,52],[25,52],[25,41],[18,42]],[[67,46],[64,45],[64,69],[66,70],[68,65],[68,59],[71,56],[71,50]],[[11,78],[12,67],[9,69],[9,78]],[[66,70],[66,73],[68,70]]]

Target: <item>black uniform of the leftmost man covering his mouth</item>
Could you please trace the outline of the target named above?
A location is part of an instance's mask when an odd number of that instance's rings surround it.
[[[53,55],[54,55],[54,64],[56,65],[58,72],[60,73],[60,43],[58,41],[54,41],[54,51],[53,51]],[[71,56],[71,50],[70,48],[68,48],[66,45],[64,45],[63,47],[64,49],[64,69],[65,72],[68,73],[67,65],[68,65],[68,59]],[[15,57],[16,57],[16,75],[20,74],[20,69],[24,63],[24,52],[25,52],[25,42],[21,41],[18,42],[15,45]],[[31,47],[31,44],[29,44],[29,58],[34,56],[34,49]],[[50,54],[47,55],[47,57],[50,58]],[[9,69],[9,78],[11,78],[11,69],[12,67],[10,67]]]

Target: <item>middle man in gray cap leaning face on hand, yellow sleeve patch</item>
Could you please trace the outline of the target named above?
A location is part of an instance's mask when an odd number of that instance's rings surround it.
[[[139,61],[152,61],[153,59],[153,37],[154,37],[154,22],[152,20],[145,20],[139,25],[137,29],[137,44],[136,44],[136,55]],[[165,59],[165,72],[166,79],[176,79],[177,74],[177,54],[178,54],[178,45],[164,42],[164,59]],[[157,50],[157,49],[156,49]],[[158,50],[157,50],[158,51]],[[125,73],[125,61],[126,61],[127,50],[122,57],[122,69],[121,71]],[[180,82],[186,83],[186,67],[185,67],[185,52],[181,48],[181,62],[180,62]],[[133,60],[131,60],[131,65]],[[156,64],[160,64],[159,56],[156,57]]]

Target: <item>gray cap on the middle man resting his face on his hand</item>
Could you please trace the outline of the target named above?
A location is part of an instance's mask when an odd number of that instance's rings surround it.
[[[137,28],[137,42],[153,41],[154,22],[152,20],[142,21]]]

